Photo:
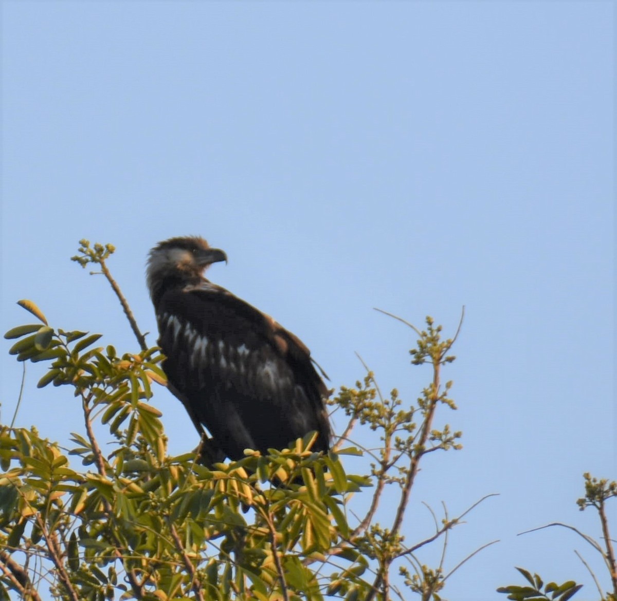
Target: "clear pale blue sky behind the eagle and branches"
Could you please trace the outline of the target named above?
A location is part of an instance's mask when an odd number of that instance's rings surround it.
[[[2,331],[30,298],[55,327],[136,350],[101,277],[68,258],[111,242],[143,330],[156,242],[225,249],[210,278],[297,333],[334,386],[363,376],[415,402],[411,330],[378,307],[454,332],[463,451],[434,454],[413,491],[451,514],[444,597],[500,598],[515,565],[595,588],[564,521],[582,473],[615,454],[613,2],[2,2]],[[154,344],[155,335],[149,341]],[[20,366],[5,353],[1,417]],[[18,425],[81,427],[65,390],[36,390]],[[196,444],[166,391],[172,452]],[[384,507],[384,515],[392,508]],[[613,529],[617,515],[613,507]],[[608,586],[605,577],[603,585]]]

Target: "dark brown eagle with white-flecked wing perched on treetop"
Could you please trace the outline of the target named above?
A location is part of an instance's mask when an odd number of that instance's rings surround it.
[[[230,459],[246,448],[285,448],[313,430],[313,450],[328,451],[328,390],[309,349],[205,279],[219,261],[227,261],[225,253],[200,237],[165,240],[150,252],[147,285],[171,390]]]

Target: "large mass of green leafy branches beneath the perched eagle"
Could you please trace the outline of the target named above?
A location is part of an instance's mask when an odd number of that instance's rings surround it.
[[[355,388],[341,388],[331,404],[348,423],[329,454],[312,452],[315,437],[307,435],[268,456],[248,451],[242,460],[205,466],[196,451],[168,456],[162,416],[149,404],[153,383],[166,383],[162,355],[146,348],[110,276],[106,260],[114,248],[80,245],[73,260],[100,266],[142,350],[120,354],[97,346],[99,334],[54,329],[34,303],[20,301],[38,323],[6,333],[15,340],[9,353],[49,362],[38,386],[68,386],[84,429],[64,449],[36,428],[0,428],[0,600],[15,591],[36,601],[48,586],[54,599],[73,601],[385,601],[404,598],[389,578],[397,565],[409,591],[440,599],[449,576],[444,559],[426,568],[416,554],[462,516],[446,515],[433,536],[412,546],[401,528],[423,456],[460,448],[460,432],[433,427],[438,407],[455,409],[441,369],[453,361],[456,337],[442,340],[431,318],[426,330],[413,328],[412,362],[433,372],[416,406],[405,406],[395,390],[382,396],[371,372]],[[99,444],[97,422],[109,430],[110,444]],[[355,446],[343,448],[358,425],[381,438],[368,475],[348,474],[341,462],[346,454],[362,456]],[[350,501],[369,486],[370,507],[355,518]],[[386,494],[397,510],[380,525]]]

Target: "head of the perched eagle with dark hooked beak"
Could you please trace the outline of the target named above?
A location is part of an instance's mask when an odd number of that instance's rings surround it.
[[[219,248],[210,248],[199,236],[170,238],[159,242],[150,251],[147,262],[147,282],[151,294],[165,279],[191,282],[202,277],[212,263],[227,261]]]

